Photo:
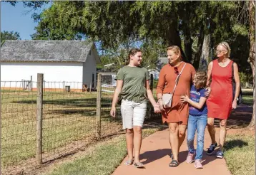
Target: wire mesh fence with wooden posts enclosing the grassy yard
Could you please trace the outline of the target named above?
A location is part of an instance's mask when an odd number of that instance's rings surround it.
[[[115,89],[110,76],[99,74],[95,88],[89,82],[49,82],[43,75],[27,88],[24,81],[1,81],[1,174],[34,171],[122,132],[120,106],[117,117],[109,116]],[[147,119],[159,117],[151,105],[147,112]]]

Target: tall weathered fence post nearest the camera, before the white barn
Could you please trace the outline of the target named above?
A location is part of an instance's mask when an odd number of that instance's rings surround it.
[[[44,74],[37,74],[37,102],[36,102],[36,162],[42,164],[42,136],[43,136],[43,83]]]

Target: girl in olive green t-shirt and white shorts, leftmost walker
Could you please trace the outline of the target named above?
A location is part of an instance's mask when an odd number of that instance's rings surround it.
[[[146,68],[140,67],[142,51],[133,48],[129,51],[128,57],[129,64],[121,68],[116,76],[117,88],[114,90],[110,115],[116,116],[116,105],[120,95],[122,123],[126,131],[128,151],[128,160],[124,164],[133,163],[139,168],[144,166],[139,161],[139,151],[142,144],[142,125],[147,110],[147,98],[153,105],[154,112],[160,112],[160,110],[149,88],[149,73]]]

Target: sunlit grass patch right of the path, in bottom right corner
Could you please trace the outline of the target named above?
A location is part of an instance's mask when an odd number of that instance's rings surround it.
[[[227,135],[225,159],[233,175],[255,174],[255,135]]]

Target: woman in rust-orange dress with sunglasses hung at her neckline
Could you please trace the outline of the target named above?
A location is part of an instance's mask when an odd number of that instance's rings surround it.
[[[167,48],[167,58],[169,59],[169,64],[164,65],[159,74],[157,100],[160,110],[162,110],[162,121],[163,123],[167,122],[169,126],[169,142],[172,147],[173,156],[169,166],[175,167],[179,164],[179,147],[182,145],[185,138],[187,119],[189,116],[188,103],[182,103],[179,97],[182,95],[189,96],[192,79],[195,75],[195,68],[191,64],[182,61],[181,51],[178,46],[170,46]],[[183,67],[184,69],[182,70]],[[181,73],[181,75],[172,98],[172,107],[166,107],[163,105],[162,95],[172,92],[179,73]]]

